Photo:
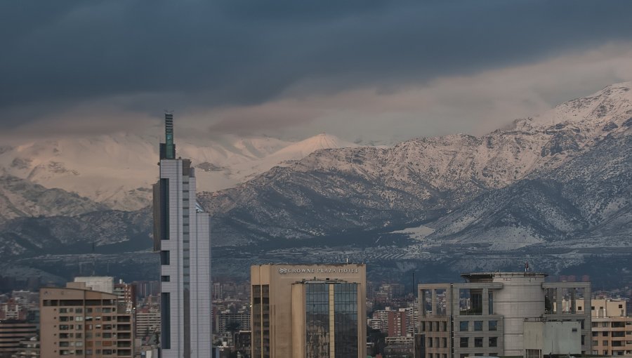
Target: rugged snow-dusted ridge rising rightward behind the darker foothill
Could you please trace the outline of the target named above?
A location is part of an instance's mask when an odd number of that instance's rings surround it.
[[[630,83],[617,84],[480,138],[448,135],[389,148],[320,150],[239,187],[204,194],[202,201],[219,227],[248,228],[247,234],[223,232],[237,241],[428,221],[485,192],[551,176],[604,140],[627,138],[631,117]],[[625,142],[612,145],[611,154],[625,156]]]

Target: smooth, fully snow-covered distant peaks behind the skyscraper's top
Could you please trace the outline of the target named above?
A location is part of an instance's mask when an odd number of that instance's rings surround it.
[[[150,203],[158,142],[150,135],[129,133],[29,142],[0,150],[0,173],[74,192],[110,208],[137,210]],[[300,142],[229,137],[205,145],[178,140],[176,145],[178,154],[199,168],[199,190],[211,192],[315,150],[355,146],[324,133]]]

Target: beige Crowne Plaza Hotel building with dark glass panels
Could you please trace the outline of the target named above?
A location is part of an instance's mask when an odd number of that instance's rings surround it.
[[[367,357],[366,291],[365,265],[252,266],[252,357]]]

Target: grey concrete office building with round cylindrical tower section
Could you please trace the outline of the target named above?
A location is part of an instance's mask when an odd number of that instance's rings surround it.
[[[461,277],[466,282],[419,285],[426,358],[591,352],[590,283],[545,282],[535,272]],[[545,333],[557,338],[543,340]]]

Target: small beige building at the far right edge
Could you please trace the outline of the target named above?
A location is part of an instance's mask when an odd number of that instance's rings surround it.
[[[626,301],[591,300],[593,354],[632,357],[632,317]]]

